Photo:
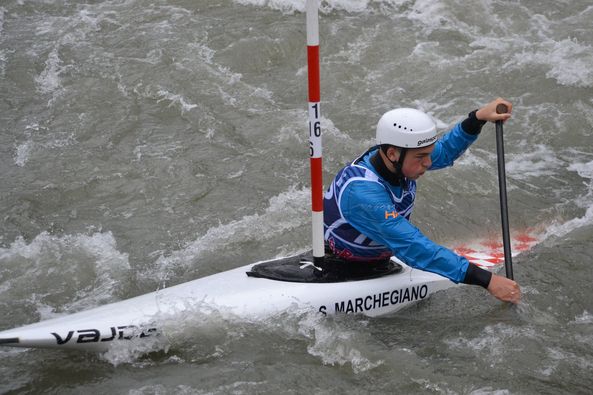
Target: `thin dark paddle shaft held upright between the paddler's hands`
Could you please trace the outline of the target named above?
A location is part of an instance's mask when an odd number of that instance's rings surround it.
[[[509,111],[504,104],[496,106],[498,114]],[[502,121],[496,121],[496,154],[498,156],[498,190],[500,193],[500,217],[502,223],[502,243],[504,247],[504,270],[507,278],[513,280],[513,258],[511,256],[511,238],[509,234],[509,210],[507,205],[507,181],[504,165],[504,140]]]

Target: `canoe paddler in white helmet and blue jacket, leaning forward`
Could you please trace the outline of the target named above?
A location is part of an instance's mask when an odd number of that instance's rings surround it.
[[[509,112],[497,114],[505,104]],[[411,267],[455,283],[480,285],[496,298],[518,303],[518,284],[470,263],[440,246],[410,223],[416,180],[442,169],[478,138],[488,121],[506,121],[512,104],[498,98],[472,111],[437,139],[424,112],[399,108],[377,124],[377,145],[338,172],[324,196],[324,228],[329,254],[347,262],[385,262],[392,255]]]

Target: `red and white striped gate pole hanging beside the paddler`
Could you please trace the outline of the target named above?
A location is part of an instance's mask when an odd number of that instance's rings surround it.
[[[313,211],[313,261],[325,255],[323,240],[323,178],[321,161],[321,108],[319,107],[318,0],[307,0],[307,70],[309,78],[309,154],[311,156],[311,203]]]

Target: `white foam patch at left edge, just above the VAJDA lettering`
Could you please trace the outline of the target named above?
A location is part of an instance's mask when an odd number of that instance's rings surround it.
[[[42,318],[117,300],[119,282],[130,269],[127,254],[117,250],[110,232],[43,232],[30,243],[19,237],[0,248],[0,266],[0,299],[23,298],[21,303],[32,305]]]

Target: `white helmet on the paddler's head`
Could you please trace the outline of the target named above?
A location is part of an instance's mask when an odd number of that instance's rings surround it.
[[[413,108],[387,111],[377,124],[377,145],[420,148],[437,140],[437,128],[428,115]]]

